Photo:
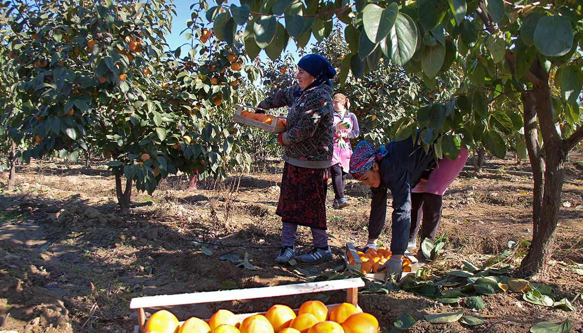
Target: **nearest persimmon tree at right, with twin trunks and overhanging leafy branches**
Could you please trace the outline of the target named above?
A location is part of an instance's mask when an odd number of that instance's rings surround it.
[[[583,26],[580,1],[255,0],[209,5],[206,17],[227,44],[243,31],[251,59],[261,50],[276,59],[290,40],[303,48],[312,34],[323,40],[338,19],[347,25],[350,48],[340,65],[341,82],[349,72],[359,77],[376,68],[381,59],[402,66],[430,89],[451,71],[461,73],[453,93],[399,119],[396,136],[408,138],[420,127],[425,149],[433,146],[438,157],[454,159],[460,146],[476,142],[504,158],[504,135],[524,127],[535,195],[533,239],[520,269],[525,275],[545,274],[566,157],[583,139],[577,104],[583,85],[576,52]],[[559,96],[551,94],[553,82],[560,86]]]

